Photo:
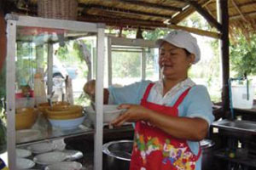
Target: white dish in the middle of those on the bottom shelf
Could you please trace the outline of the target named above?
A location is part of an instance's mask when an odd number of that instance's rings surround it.
[[[35,156],[33,161],[40,165],[50,165],[56,162],[64,161],[67,158],[67,155],[60,151],[47,152]]]

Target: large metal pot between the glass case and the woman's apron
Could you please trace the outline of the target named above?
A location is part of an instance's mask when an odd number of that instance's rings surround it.
[[[103,144],[103,169],[129,170],[132,146],[132,140],[118,140]]]

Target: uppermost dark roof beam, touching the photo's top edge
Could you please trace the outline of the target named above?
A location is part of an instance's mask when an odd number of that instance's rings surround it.
[[[172,10],[172,11],[182,11],[182,8],[177,8],[173,6],[166,6],[166,5],[160,5],[157,3],[147,3],[143,1],[134,1],[134,0],[118,0],[121,3],[130,3],[134,5],[140,5],[144,7],[149,7],[149,8],[161,8],[161,9],[166,9],[166,10]]]

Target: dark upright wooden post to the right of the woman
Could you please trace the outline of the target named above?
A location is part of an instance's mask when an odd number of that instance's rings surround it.
[[[222,23],[220,40],[220,57],[222,59],[222,106],[227,114],[230,111],[229,79],[230,79],[230,41],[229,41],[229,9],[228,0],[218,0],[220,10],[220,21]]]

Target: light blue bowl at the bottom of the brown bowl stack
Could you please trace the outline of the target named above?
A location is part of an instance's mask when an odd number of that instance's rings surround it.
[[[67,119],[67,120],[55,120],[49,119],[50,124],[53,127],[59,127],[61,129],[73,129],[79,127],[79,125],[84,122],[85,116],[80,116],[79,118]]]

